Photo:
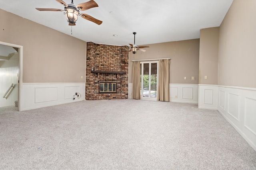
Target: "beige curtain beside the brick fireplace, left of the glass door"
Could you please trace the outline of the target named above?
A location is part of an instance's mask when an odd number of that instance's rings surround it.
[[[133,62],[132,98],[140,99],[140,61]]]

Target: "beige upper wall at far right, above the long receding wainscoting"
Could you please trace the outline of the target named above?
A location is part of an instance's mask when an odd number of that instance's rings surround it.
[[[256,87],[256,1],[234,0],[219,37],[218,84]]]

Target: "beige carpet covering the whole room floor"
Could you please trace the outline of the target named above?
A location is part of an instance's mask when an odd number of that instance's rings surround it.
[[[0,108],[0,169],[255,170],[256,151],[214,110],[100,100]]]

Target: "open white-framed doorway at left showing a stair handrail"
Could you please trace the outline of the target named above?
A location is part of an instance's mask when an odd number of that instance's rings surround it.
[[[22,53],[22,46],[0,41],[0,107],[21,111]]]

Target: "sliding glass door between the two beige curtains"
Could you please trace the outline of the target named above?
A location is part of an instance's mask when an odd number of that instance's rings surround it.
[[[140,62],[141,97],[156,99],[158,62]]]

